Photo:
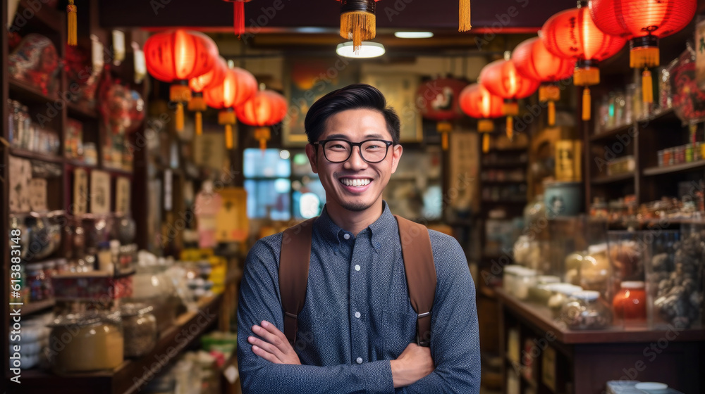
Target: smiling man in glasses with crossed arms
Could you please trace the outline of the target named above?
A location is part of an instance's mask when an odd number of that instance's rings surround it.
[[[287,240],[279,233],[257,241],[245,262],[238,305],[243,391],[479,393],[467,260],[458,241],[427,229],[437,283],[430,338],[417,336],[422,315],[410,300],[401,222],[382,199],[402,157],[398,115],[379,90],[353,84],[314,103],[305,128],[327,202],[310,226],[305,302],[298,316],[287,311],[297,340],[294,348],[283,333],[279,265]]]

